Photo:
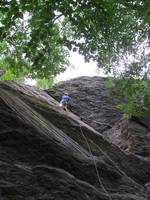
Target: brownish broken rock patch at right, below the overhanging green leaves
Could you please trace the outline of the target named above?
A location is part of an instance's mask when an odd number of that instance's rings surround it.
[[[149,129],[135,120],[121,120],[105,136],[121,149],[150,159]]]

